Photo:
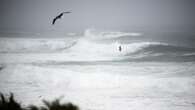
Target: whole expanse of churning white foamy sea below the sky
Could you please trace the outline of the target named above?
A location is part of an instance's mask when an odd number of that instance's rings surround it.
[[[0,92],[24,106],[63,97],[81,110],[194,110],[195,48],[142,36],[2,37]]]

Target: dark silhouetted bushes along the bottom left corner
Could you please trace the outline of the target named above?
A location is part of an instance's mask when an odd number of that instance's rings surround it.
[[[30,105],[23,108],[15,99],[11,93],[10,97],[7,98],[1,94],[0,98],[0,110],[79,110],[79,108],[72,103],[60,103],[60,99],[56,99],[52,102],[43,100],[44,106]]]

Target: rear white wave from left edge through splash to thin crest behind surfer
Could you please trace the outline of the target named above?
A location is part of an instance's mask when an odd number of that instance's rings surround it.
[[[36,52],[59,52],[65,51],[81,43],[94,42],[98,40],[120,38],[123,36],[140,36],[141,33],[126,32],[98,32],[94,29],[86,29],[81,39],[80,37],[64,38],[1,38],[0,53],[36,53]],[[41,35],[40,35],[41,36]],[[79,39],[79,40],[78,40]],[[93,45],[92,43],[90,45]]]

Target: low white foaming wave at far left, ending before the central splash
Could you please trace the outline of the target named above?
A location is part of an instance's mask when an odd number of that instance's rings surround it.
[[[75,40],[69,39],[8,38],[0,40],[0,53],[59,52],[75,44]]]

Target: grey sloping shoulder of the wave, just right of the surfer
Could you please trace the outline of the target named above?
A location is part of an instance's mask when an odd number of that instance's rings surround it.
[[[125,48],[125,60],[129,61],[195,61],[195,48],[181,47],[161,42],[133,43]]]

